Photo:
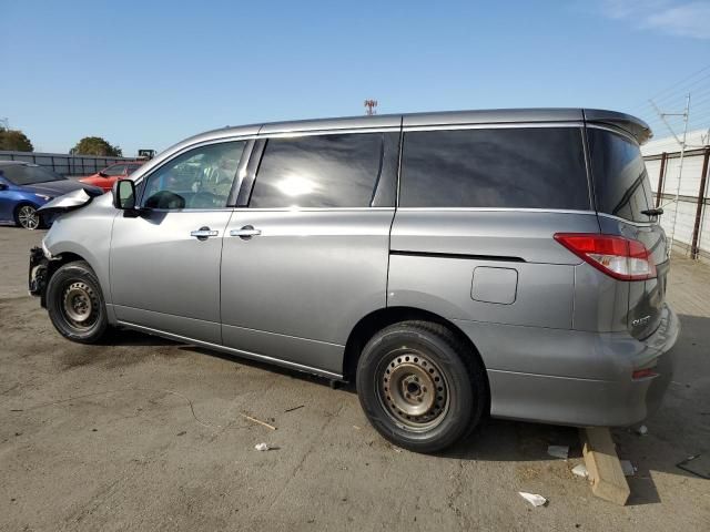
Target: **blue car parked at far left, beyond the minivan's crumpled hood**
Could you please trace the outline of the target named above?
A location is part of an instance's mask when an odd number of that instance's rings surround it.
[[[45,223],[37,209],[57,196],[79,188],[91,195],[103,192],[37,164],[0,161],[0,223],[16,224],[26,229],[42,227]]]

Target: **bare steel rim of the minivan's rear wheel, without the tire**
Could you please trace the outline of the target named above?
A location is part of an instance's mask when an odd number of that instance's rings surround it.
[[[446,417],[450,401],[448,382],[424,352],[408,348],[390,351],[376,379],[379,402],[398,426],[423,432]]]

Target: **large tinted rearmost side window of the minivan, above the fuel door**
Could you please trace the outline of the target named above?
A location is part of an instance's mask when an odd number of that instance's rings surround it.
[[[405,133],[399,205],[588,209],[581,131]]]

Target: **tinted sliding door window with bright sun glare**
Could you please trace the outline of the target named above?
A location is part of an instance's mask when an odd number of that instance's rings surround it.
[[[250,207],[368,207],[382,150],[381,133],[271,139]]]

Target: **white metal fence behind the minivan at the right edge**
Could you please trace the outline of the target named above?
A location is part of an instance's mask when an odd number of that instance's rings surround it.
[[[680,196],[676,192],[680,174],[680,152],[646,155],[656,205],[663,207],[661,225],[670,237],[676,228],[673,247],[691,258],[710,260],[710,215],[708,214],[708,160],[710,146],[687,150],[683,156]],[[676,217],[676,211],[678,215]]]

